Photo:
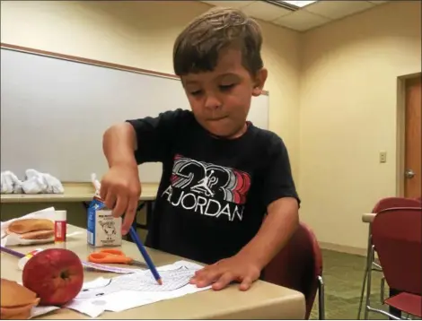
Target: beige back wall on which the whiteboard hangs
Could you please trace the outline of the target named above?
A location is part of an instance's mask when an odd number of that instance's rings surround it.
[[[191,19],[209,8],[199,2],[179,1],[2,1],[1,39],[8,44],[173,74],[174,39]],[[268,23],[262,23],[262,28],[271,105],[269,127],[285,139],[299,179],[298,34]],[[34,206],[4,204],[2,217],[28,213]],[[75,213],[74,220],[84,224],[82,205],[57,206]]]

